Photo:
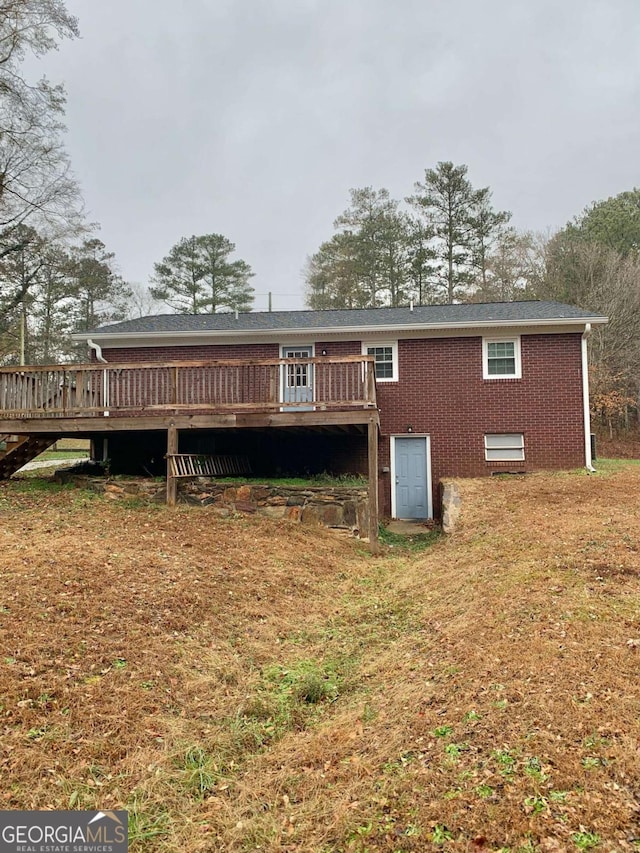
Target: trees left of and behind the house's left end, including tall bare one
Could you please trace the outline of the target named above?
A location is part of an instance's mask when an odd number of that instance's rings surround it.
[[[151,287],[123,280],[87,223],[64,148],[65,93],[24,72],[79,35],[62,0],[0,0],[0,364],[85,358],[73,332],[168,306],[189,313],[251,309],[253,276],[221,234],[180,240]],[[166,308],[164,308],[166,310]]]

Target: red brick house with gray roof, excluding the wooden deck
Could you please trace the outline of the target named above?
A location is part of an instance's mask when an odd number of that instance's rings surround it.
[[[318,362],[372,357],[380,506],[384,515],[413,518],[437,513],[443,476],[591,465],[586,338],[603,322],[573,306],[530,301],[165,315],[99,329],[91,340],[108,362],[298,359],[283,372],[282,408],[293,394],[316,411]],[[328,428],[235,431],[209,444],[249,448],[253,469],[265,473],[366,473],[363,436]],[[192,445],[205,449],[207,440]]]

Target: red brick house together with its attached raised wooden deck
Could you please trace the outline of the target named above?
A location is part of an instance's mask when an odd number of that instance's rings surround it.
[[[159,473],[175,428],[173,453],[375,474],[383,515],[429,518],[445,476],[591,467],[605,322],[537,301],[144,317],[76,336],[91,365],[0,370],[0,435],[81,434]]]

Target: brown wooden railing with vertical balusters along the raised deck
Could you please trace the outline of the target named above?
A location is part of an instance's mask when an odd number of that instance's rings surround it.
[[[371,356],[0,368],[0,420],[361,407]]]

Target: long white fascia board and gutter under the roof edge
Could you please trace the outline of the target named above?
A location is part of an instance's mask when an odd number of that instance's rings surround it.
[[[86,341],[91,338],[99,341],[102,346],[139,347],[139,346],[189,346],[196,344],[212,344],[223,340],[238,343],[264,343],[266,340],[290,340],[291,338],[307,340],[362,340],[364,337],[380,338],[381,336],[392,336],[394,338],[415,337],[458,337],[469,335],[482,335],[487,329],[514,330],[519,334],[526,334],[525,330],[531,329],[531,333],[574,331],[578,326],[584,329],[585,323],[603,325],[607,323],[606,317],[592,318],[558,318],[545,320],[487,320],[483,323],[468,321],[465,323],[430,323],[429,325],[406,324],[406,325],[374,325],[374,326],[333,326],[315,327],[304,329],[211,329],[211,330],[187,330],[182,332],[94,332],[93,334],[76,333],[72,335],[74,341]]]

